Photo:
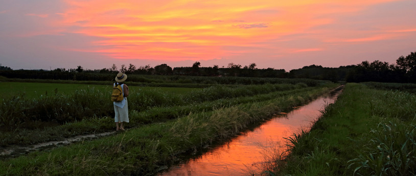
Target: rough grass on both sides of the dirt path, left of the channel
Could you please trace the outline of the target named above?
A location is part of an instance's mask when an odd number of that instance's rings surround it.
[[[28,155],[12,154],[0,162],[0,174],[152,175],[177,162],[182,153],[224,141],[247,125],[287,112],[338,86],[325,81],[306,80],[311,86],[305,80],[287,81],[182,91],[187,93],[180,93],[182,88],[168,92],[140,87],[129,96],[126,132]],[[0,107],[1,146],[114,131],[107,90],[90,85],[68,91],[60,93],[58,88],[53,96],[5,98]]]

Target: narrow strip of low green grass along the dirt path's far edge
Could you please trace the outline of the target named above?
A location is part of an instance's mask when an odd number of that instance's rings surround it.
[[[334,87],[336,85],[328,85]],[[264,86],[260,86],[264,87]],[[242,87],[244,88],[244,87]],[[290,88],[290,87],[289,87]],[[187,105],[176,105],[169,107],[154,107],[146,111],[130,111],[130,123],[127,124],[127,128],[137,127],[143,124],[164,122],[170,119],[179,118],[181,116],[188,115],[190,113],[213,111],[214,109],[221,107],[230,107],[242,103],[249,102],[261,102],[269,100],[275,97],[297,94],[299,92],[306,92],[311,90],[319,90],[321,87],[305,87],[292,90],[280,90],[270,93],[255,94],[252,96],[239,96],[235,98],[221,98],[213,101],[204,101]],[[220,92],[224,90],[221,89]],[[247,93],[247,92],[246,92]],[[231,93],[228,93],[231,94]],[[222,96],[220,94],[220,96]],[[134,108],[132,108],[134,109]],[[286,111],[286,110],[283,110]],[[62,140],[66,137],[81,135],[85,133],[99,133],[110,131],[114,129],[112,123],[112,117],[104,118],[86,118],[79,122],[66,123],[58,127],[45,127],[41,129],[20,129],[12,132],[4,132],[0,136],[0,145],[19,144],[27,145],[31,143],[44,142],[48,140]]]

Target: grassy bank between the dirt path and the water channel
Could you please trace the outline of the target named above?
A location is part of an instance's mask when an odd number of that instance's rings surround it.
[[[117,175],[154,174],[160,166],[175,161],[178,154],[205,144],[228,139],[248,124],[304,104],[336,85],[304,88],[289,94],[247,97],[232,106],[212,111],[201,108],[189,115],[161,123],[143,125],[125,133],[94,141],[83,141],[45,152],[0,162],[0,173],[10,175]],[[302,90],[302,89],[301,89]],[[233,100],[233,99],[232,99]],[[255,100],[255,101],[253,101]],[[210,106],[210,103],[205,104]],[[190,105],[191,107],[193,105]],[[198,105],[199,106],[199,105]],[[132,113],[137,116],[140,112]],[[133,120],[132,120],[133,121]]]

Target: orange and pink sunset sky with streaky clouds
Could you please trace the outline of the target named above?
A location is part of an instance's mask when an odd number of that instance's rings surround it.
[[[415,0],[0,0],[12,69],[396,63],[416,52]]]

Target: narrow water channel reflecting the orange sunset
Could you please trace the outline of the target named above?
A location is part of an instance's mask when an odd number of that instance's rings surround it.
[[[272,118],[253,131],[241,133],[229,142],[211,148],[203,155],[172,166],[159,175],[251,175],[259,174],[262,166],[285,149],[284,137],[309,131],[312,122],[325,105],[334,103],[339,92],[321,96],[309,104]]]

